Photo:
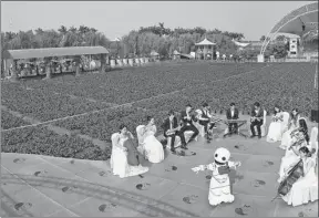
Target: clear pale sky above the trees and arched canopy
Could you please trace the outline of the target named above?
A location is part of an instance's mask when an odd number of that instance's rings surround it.
[[[164,22],[244,33],[259,40],[287,13],[315,1],[1,1],[1,31],[86,25],[106,38]]]

